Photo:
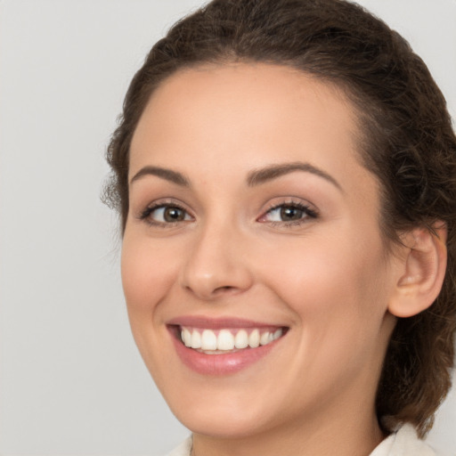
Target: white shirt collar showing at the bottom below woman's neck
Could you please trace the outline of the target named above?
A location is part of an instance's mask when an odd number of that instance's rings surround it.
[[[167,456],[190,456],[191,437],[183,441]],[[388,436],[371,452],[370,456],[437,456],[427,444],[419,440],[415,428],[403,425],[395,434]]]

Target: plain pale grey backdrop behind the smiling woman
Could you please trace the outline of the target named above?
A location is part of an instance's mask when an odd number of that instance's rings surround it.
[[[362,0],[456,114],[456,0]],[[0,454],[166,453],[188,435],[130,335],[103,154],[145,53],[199,0],[0,0]],[[278,386],[280,387],[280,386]],[[429,441],[456,454],[456,394]]]

